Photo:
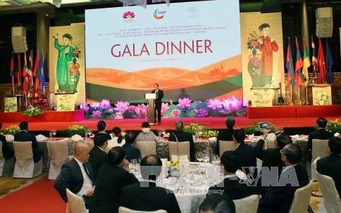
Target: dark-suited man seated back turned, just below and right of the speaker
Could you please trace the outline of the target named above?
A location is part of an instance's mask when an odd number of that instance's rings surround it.
[[[169,141],[190,141],[190,160],[192,162],[195,161],[195,153],[194,153],[194,141],[193,136],[190,133],[183,131],[183,122],[178,121],[175,122],[175,132],[172,132],[169,136]]]

